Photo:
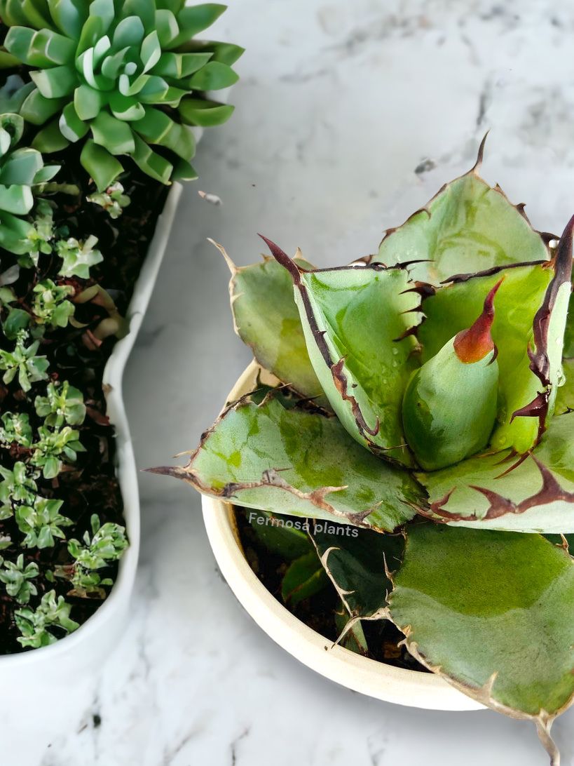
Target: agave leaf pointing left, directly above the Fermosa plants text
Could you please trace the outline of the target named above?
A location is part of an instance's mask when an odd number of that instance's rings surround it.
[[[153,470],[248,508],[380,530],[413,518],[420,492],[406,471],[362,449],[336,417],[293,406],[279,392],[259,405],[251,398],[232,404],[184,468]]]

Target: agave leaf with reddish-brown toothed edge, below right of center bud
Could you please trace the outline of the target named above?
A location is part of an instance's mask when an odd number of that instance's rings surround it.
[[[556,415],[530,457],[507,473],[510,450],[416,474],[429,493],[420,512],[449,525],[574,532],[573,429],[574,414]]]

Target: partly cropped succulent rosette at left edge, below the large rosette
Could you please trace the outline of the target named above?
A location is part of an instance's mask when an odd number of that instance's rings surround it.
[[[34,192],[60,169],[44,165],[38,149],[18,148],[23,133],[20,115],[0,115],[0,246],[18,255],[26,252],[32,231],[28,215],[34,208]]]

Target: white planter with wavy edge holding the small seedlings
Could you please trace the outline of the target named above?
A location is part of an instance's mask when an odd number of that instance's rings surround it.
[[[197,133],[201,135],[201,132]],[[0,656],[0,673],[4,688],[10,689],[11,684],[19,687],[33,685],[37,683],[40,674],[43,679],[73,678],[73,672],[76,670],[88,666],[97,667],[112,650],[128,624],[129,600],[138,566],[140,519],[138,470],[135,466],[132,437],[122,398],[122,375],[152,296],[180,196],[181,185],[174,184],[158,218],[148,254],[135,283],[127,312],[129,333],[114,346],[103,373],[107,414],[116,429],[117,476],[122,491],[129,548],[119,562],[118,577],[111,593],[89,620],[69,636],[49,647]],[[93,510],[97,511],[96,508]],[[28,688],[33,689],[34,686]]]

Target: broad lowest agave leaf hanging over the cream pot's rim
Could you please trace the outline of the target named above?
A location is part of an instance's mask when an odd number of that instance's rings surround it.
[[[484,705],[550,725],[574,698],[574,561],[540,535],[412,525],[390,617],[406,647]]]

